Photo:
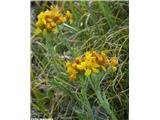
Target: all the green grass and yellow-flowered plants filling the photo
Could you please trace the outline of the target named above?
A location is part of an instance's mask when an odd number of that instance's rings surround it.
[[[128,120],[128,17],[127,1],[31,1],[31,118]]]

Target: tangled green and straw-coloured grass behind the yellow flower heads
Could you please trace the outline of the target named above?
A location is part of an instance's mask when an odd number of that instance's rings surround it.
[[[73,23],[64,25],[61,32],[34,33],[36,16],[50,5],[62,12],[70,10]],[[129,37],[128,2],[31,2],[31,117],[60,120],[110,120],[104,106],[88,84],[82,96],[79,81],[71,81],[65,63],[86,51],[104,51],[117,56],[116,73],[106,75],[100,84],[118,120],[128,119],[129,105]],[[66,44],[67,43],[67,44]],[[80,99],[77,100],[77,96]],[[85,104],[90,104],[90,111]],[[92,114],[93,118],[90,118]]]

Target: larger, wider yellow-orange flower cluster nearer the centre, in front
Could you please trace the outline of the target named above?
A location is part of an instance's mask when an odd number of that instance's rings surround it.
[[[104,52],[87,51],[84,56],[79,56],[75,61],[67,61],[67,73],[71,80],[77,79],[77,73],[84,73],[85,76],[90,76],[92,72],[98,73],[101,69],[106,71],[106,68],[111,65],[112,70],[116,71],[118,60],[116,57],[109,59]]]

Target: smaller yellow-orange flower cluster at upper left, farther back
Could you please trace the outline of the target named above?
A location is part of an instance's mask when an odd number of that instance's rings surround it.
[[[37,16],[38,21],[36,22],[36,30],[35,34],[39,34],[46,31],[57,31],[57,25],[60,25],[64,22],[72,23],[72,14],[67,11],[65,16],[63,17],[62,13],[57,7],[50,7],[50,10],[46,10],[45,12],[41,12]]]

